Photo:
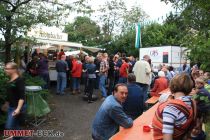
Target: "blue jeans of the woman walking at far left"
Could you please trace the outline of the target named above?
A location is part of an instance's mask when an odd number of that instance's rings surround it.
[[[15,111],[17,107],[10,107],[8,108],[7,111],[7,121],[5,124],[5,128],[7,130],[19,130],[20,129],[20,117],[21,115],[17,115],[17,116],[12,116],[12,113]],[[20,113],[24,113],[26,111],[26,104],[23,105]]]

